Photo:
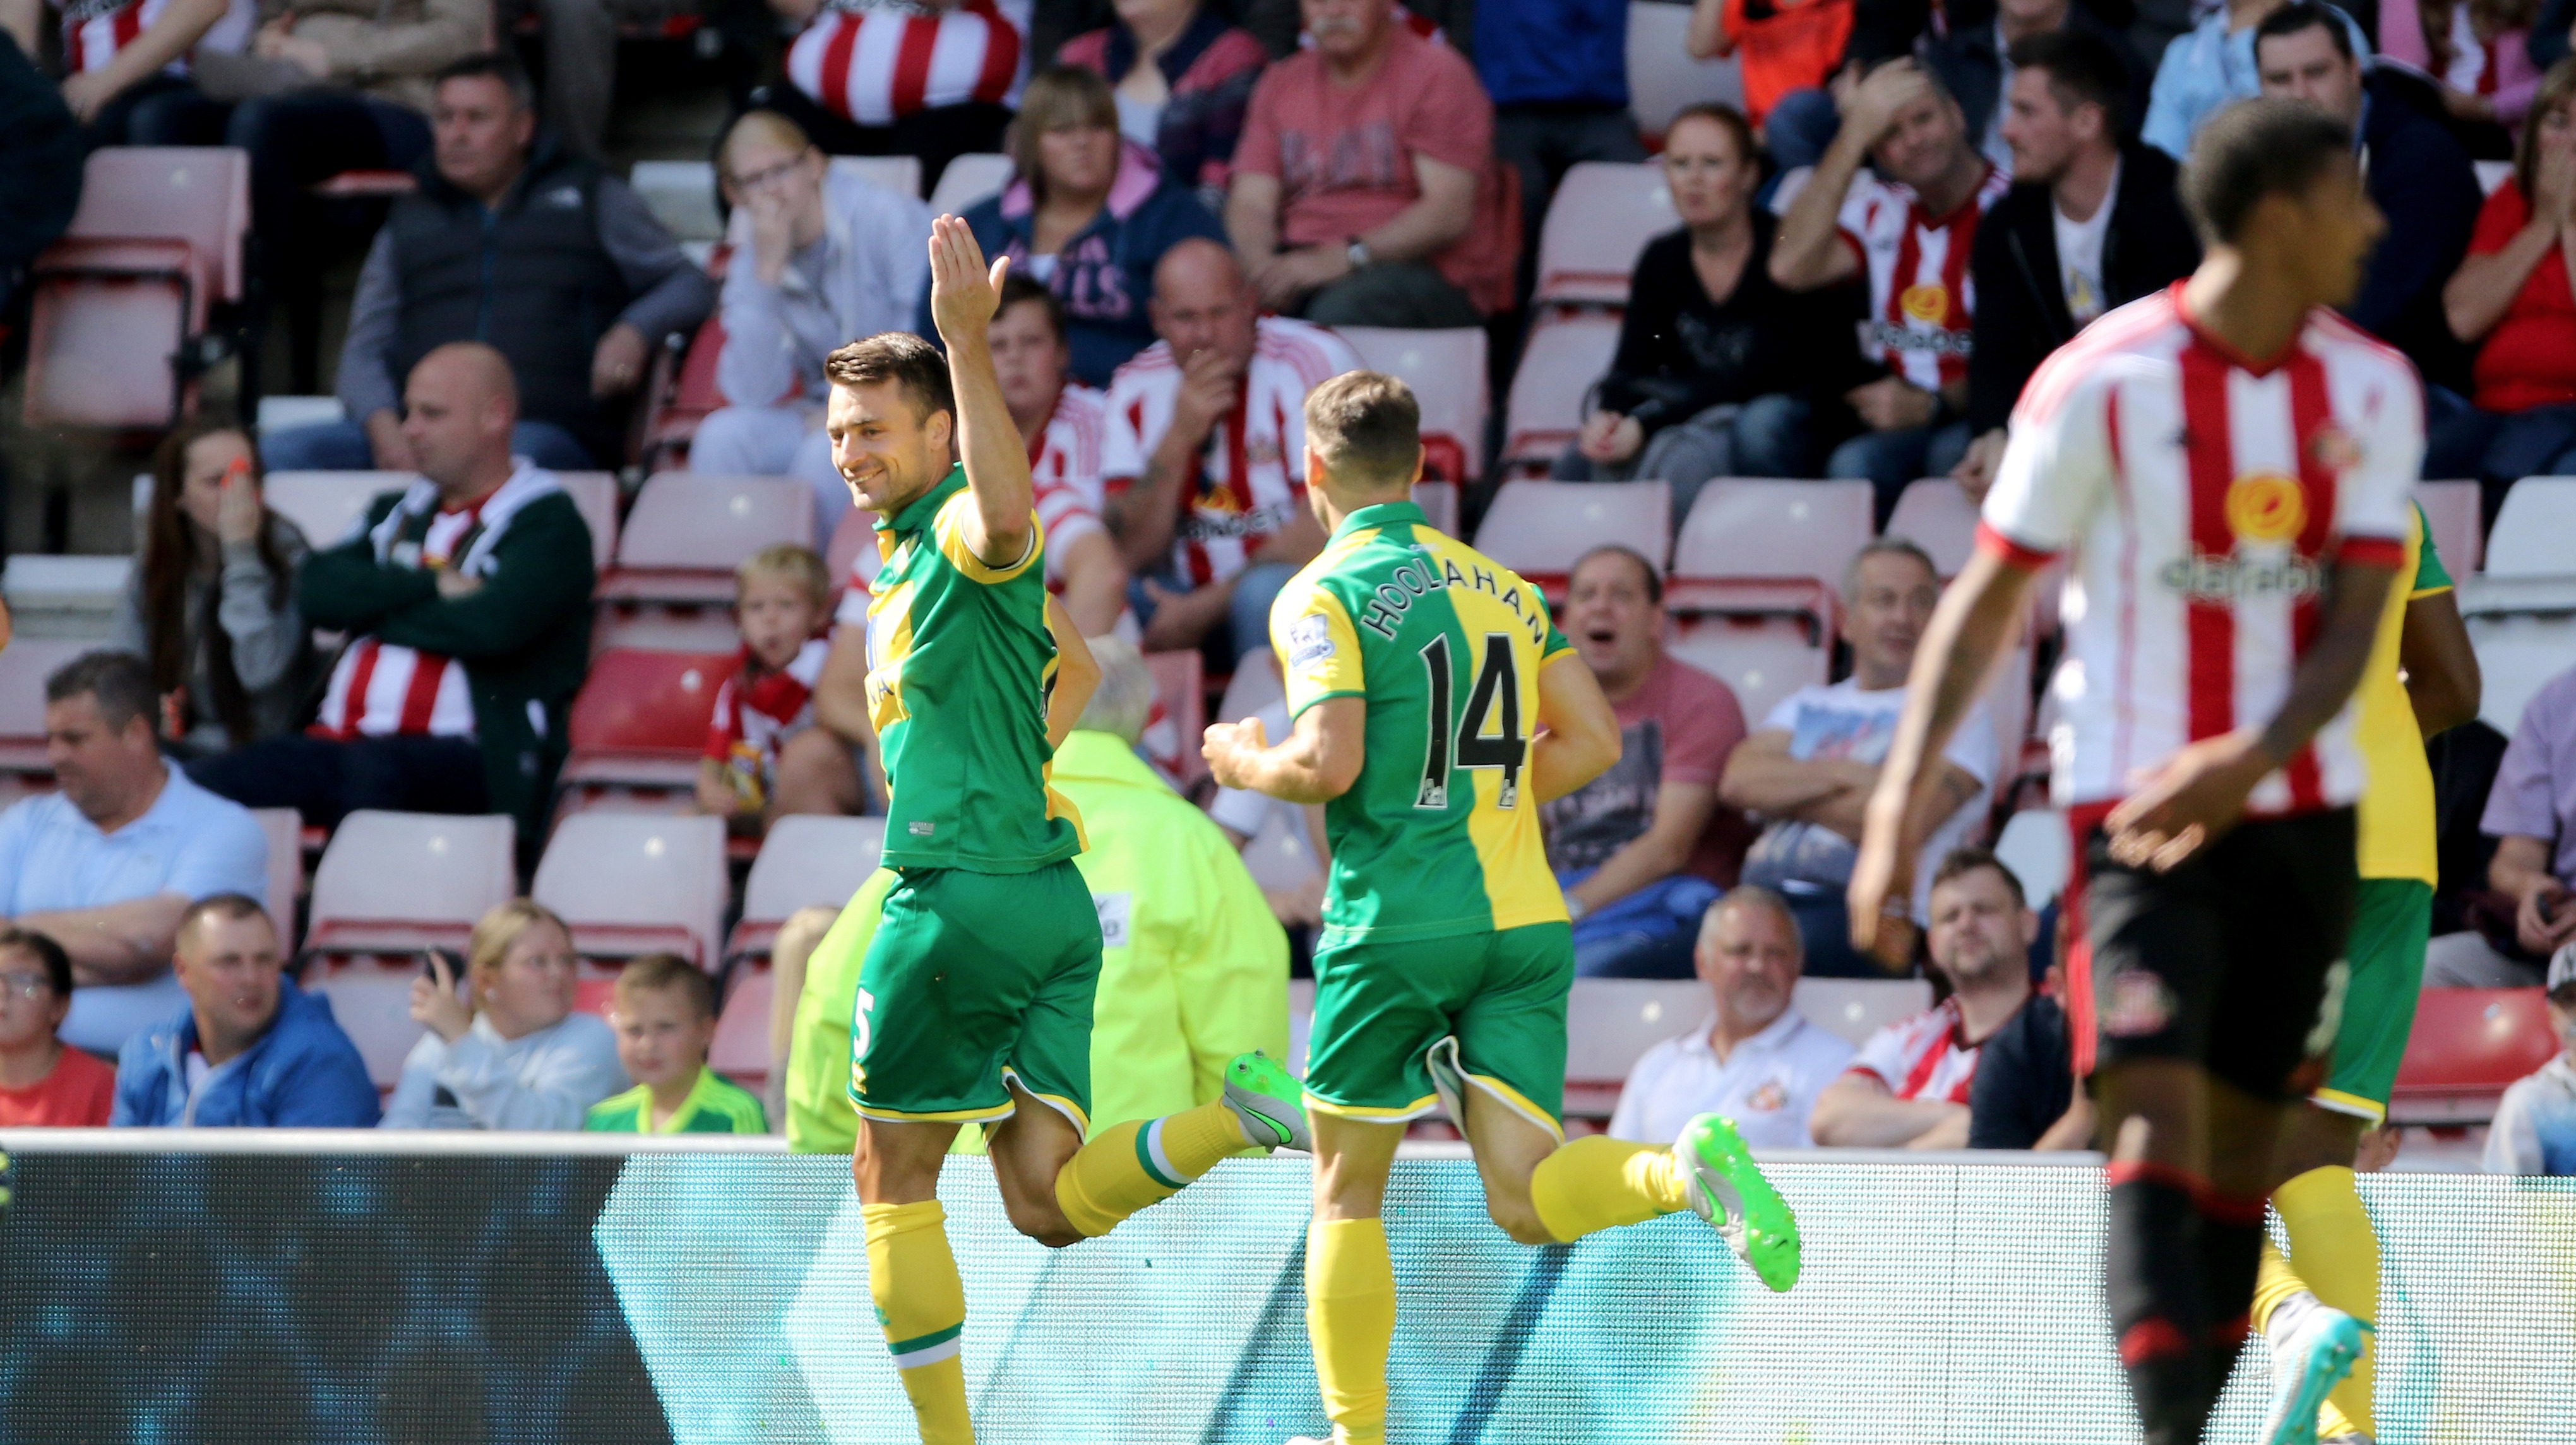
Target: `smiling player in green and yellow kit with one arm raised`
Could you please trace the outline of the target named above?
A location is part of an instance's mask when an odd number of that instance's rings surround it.
[[[987,348],[1007,265],[987,273],[966,224],[940,216],[930,314],[948,361],[889,332],[824,363],[832,464],[881,518],[868,713],[896,871],[850,1017],[850,1167],[868,1293],[925,1445],[974,1440],[966,1296],[935,1193],[961,1123],[984,1126],[1002,1208],[1041,1244],[1108,1234],[1247,1146],[1303,1146],[1296,1079],[1249,1053],[1218,1102],[1082,1144],[1100,917],[1046,768],[1092,665],[1046,598],[1028,451]]]

